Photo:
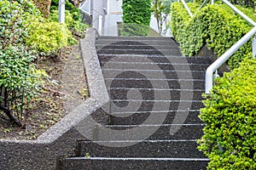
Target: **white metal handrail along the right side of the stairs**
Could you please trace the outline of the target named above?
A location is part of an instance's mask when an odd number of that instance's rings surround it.
[[[193,14],[190,12],[189,7],[184,2],[184,0],[181,0],[184,7],[187,9],[189,15],[191,18],[193,18]],[[227,4],[230,8],[232,8],[237,14],[239,14],[243,19],[247,20],[251,25],[253,25],[253,29],[251,31],[248,31],[246,35],[241,37],[241,39],[236,42],[230,49],[228,49],[224,54],[222,54],[218,59],[216,59],[212,65],[208,66],[206,71],[206,84],[205,84],[205,93],[210,94],[211,89],[213,87],[213,73],[218,71],[218,68],[223,65],[226,60],[230,59],[230,56],[234,54],[241,46],[246,43],[251,37],[254,36],[256,33],[256,23],[251,20],[249,17],[247,17],[246,14],[243,14],[238,8],[236,8],[233,4],[231,4],[227,0],[222,0],[223,3]],[[212,4],[214,3],[214,0],[212,0]],[[256,39],[253,38],[253,58],[256,55]]]

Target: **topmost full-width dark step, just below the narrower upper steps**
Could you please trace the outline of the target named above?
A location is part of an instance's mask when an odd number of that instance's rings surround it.
[[[181,57],[169,55],[150,55],[147,54],[98,54],[100,62],[109,60],[118,62],[143,62],[143,63],[171,63],[171,64],[211,64],[212,59],[203,57]]]

